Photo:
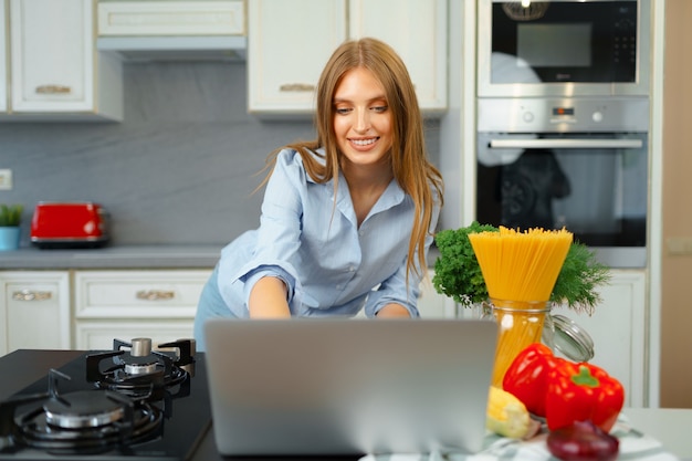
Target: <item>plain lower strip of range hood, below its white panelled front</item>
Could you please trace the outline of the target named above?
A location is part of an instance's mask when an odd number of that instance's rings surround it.
[[[125,61],[244,61],[245,36],[102,36],[98,51],[114,52]]]

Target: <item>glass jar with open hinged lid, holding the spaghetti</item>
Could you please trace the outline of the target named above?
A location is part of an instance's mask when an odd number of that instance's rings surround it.
[[[494,386],[502,387],[504,374],[514,358],[532,343],[543,343],[557,356],[572,362],[594,358],[594,340],[570,318],[553,314],[549,301],[506,301],[490,298],[482,304],[482,318],[497,323],[497,348],[493,369]]]

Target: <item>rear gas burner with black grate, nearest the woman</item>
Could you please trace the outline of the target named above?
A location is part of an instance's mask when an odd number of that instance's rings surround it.
[[[151,339],[135,338],[132,343],[114,339],[112,352],[90,354],[86,357],[86,378],[98,388],[117,390],[137,399],[160,398],[160,390],[188,380],[193,369],[193,339],[160,344],[160,348],[176,348],[178,354],[151,350]],[[112,358],[112,366],[103,369],[102,362]]]

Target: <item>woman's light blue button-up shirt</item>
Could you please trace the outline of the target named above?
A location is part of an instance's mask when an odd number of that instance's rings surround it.
[[[248,317],[252,286],[266,275],[285,282],[293,316],[354,316],[365,307],[371,317],[388,303],[419,316],[421,277],[411,273],[406,283],[411,198],[392,180],[358,227],[343,176],[336,200],[334,192],[334,180],[313,181],[296,151],[279,154],[260,227],[221,252],[217,284],[232,316]],[[436,207],[431,229],[438,216]],[[432,235],[426,253],[431,243]]]

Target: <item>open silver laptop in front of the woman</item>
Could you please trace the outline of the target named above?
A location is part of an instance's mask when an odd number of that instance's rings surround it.
[[[213,319],[223,455],[476,452],[497,327],[475,319]]]

